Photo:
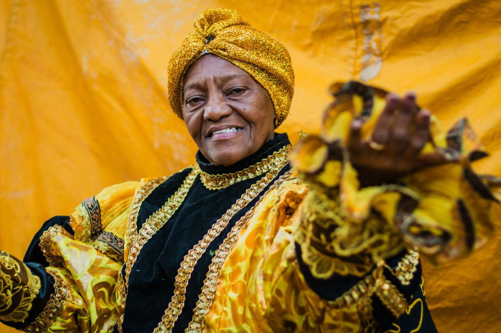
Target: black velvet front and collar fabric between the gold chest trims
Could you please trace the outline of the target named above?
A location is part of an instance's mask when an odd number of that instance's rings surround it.
[[[285,144],[289,144],[287,135],[277,135],[266,142],[255,154],[238,162],[238,166],[214,166],[204,161],[204,157],[199,153],[197,153],[197,161],[200,169],[207,173],[231,173],[255,164],[257,161],[269,156],[273,151],[279,150]],[[277,178],[289,170],[289,165],[285,166]],[[172,176],[152,192],[139,209],[138,227],[142,226],[146,219],[162,207],[168,198],[177,191],[189,171],[184,170]],[[231,205],[236,203],[237,199],[262,177],[264,175],[239,182],[221,190],[206,189],[200,178],[197,177],[185,201],[169,221],[144,245],[132,268],[122,325],[124,333],[153,331],[161,321],[162,315],[174,294],[174,280],[184,256],[203,238],[212,224],[221,218]],[[262,193],[271,184],[273,184],[273,181]],[[256,197],[244,209],[234,215],[226,229],[210,243],[206,252],[197,262],[187,286],[185,306],[174,326],[173,332],[184,332],[189,321],[191,321],[193,309],[196,306],[213,253],[219,248],[219,245],[235,223],[258,200],[259,197]],[[144,318],[151,319],[145,321]]]

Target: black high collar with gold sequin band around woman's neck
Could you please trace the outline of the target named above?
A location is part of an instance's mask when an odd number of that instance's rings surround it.
[[[275,133],[275,137],[266,141],[258,151],[233,165],[213,165],[200,150],[196,153],[196,161],[203,185],[210,190],[219,190],[262,175],[272,168],[281,168],[289,162],[290,152],[291,143],[287,134]]]

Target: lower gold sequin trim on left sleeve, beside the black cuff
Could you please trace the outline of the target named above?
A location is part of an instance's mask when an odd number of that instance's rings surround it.
[[[43,308],[38,317],[23,331],[25,332],[43,332],[57,319],[69,297],[69,286],[66,281],[51,270],[47,273],[54,277],[54,293]]]

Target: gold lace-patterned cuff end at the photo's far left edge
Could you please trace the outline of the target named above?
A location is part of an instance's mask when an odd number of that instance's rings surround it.
[[[40,286],[40,278],[23,262],[0,251],[0,319],[20,322],[28,318]]]

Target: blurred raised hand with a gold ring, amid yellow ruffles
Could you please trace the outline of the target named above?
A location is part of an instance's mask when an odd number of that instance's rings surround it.
[[[361,187],[377,186],[425,166],[442,163],[438,154],[420,155],[430,137],[428,110],[416,110],[415,95],[388,94],[370,140],[362,138],[363,122],[351,122],[347,148]]]

